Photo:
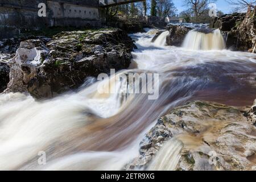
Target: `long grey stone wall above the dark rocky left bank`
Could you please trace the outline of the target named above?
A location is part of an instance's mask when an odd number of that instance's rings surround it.
[[[46,3],[46,17],[38,16],[39,3]],[[97,27],[100,13],[96,0],[1,0],[0,39],[52,26]]]

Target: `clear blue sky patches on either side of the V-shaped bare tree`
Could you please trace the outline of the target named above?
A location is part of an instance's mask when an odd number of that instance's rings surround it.
[[[179,10],[179,13],[186,9],[186,7],[183,6],[183,0],[172,0],[177,7],[177,10]],[[229,3],[225,0],[217,0],[216,2],[217,9],[221,10],[224,13],[230,13],[232,10],[232,7],[230,7]]]

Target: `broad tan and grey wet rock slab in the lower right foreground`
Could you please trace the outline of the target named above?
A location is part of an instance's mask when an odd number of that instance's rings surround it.
[[[237,107],[205,101],[176,107],[160,118],[146,134],[138,158],[127,164],[125,169],[151,169],[152,164],[154,168],[168,169],[172,161],[167,161],[171,157],[179,160],[175,170],[254,170],[256,128],[244,113]],[[154,132],[159,128],[160,135]],[[173,139],[183,143],[179,154],[172,152],[168,158],[158,157],[163,155],[163,152],[159,152],[162,146],[175,141]],[[142,146],[147,146],[147,149]],[[170,147],[175,146],[170,144]],[[151,148],[154,148],[154,152],[151,152]],[[168,146],[164,146],[164,150],[168,151]],[[177,155],[176,158],[173,155]],[[164,166],[155,166],[163,163]]]

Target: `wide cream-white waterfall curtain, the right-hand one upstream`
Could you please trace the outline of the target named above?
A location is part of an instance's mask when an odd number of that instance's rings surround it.
[[[224,49],[225,40],[220,30],[195,29],[188,32],[183,47],[191,50],[221,50]]]

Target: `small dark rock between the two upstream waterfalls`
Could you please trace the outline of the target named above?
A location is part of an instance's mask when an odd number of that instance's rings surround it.
[[[192,28],[170,25],[167,26],[167,30],[170,31],[170,34],[166,38],[167,45],[180,47],[185,39],[185,36],[190,30],[192,30]]]

